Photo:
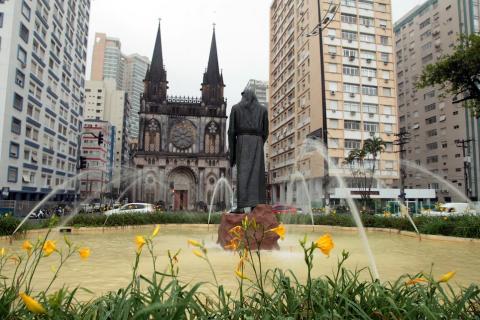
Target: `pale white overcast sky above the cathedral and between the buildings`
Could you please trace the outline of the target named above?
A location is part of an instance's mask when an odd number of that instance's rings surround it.
[[[229,107],[249,79],[268,80],[268,26],[271,0],[92,0],[88,73],[95,32],[119,38],[125,54],[151,58],[158,19],[169,94],[200,95],[216,23],[220,68]],[[392,0],[393,19],[423,0]]]

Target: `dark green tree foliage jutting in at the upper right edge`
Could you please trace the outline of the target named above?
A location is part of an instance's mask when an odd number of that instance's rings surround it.
[[[435,85],[454,103],[465,101],[465,107],[480,118],[480,35],[461,35],[452,54],[423,69],[417,88]]]

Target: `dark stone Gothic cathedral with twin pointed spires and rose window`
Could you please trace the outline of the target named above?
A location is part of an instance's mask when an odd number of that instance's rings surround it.
[[[170,210],[205,208],[215,184],[229,172],[227,102],[215,29],[201,97],[167,95],[160,26],[144,85],[139,141],[133,156],[134,201],[162,203]],[[225,196],[217,194],[214,203],[225,203]]]

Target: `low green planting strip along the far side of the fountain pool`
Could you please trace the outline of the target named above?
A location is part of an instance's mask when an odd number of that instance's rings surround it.
[[[286,224],[311,224],[310,215],[278,215],[280,222]],[[211,224],[220,223],[221,214],[212,213]],[[363,225],[367,228],[390,228],[414,231],[408,219],[383,217],[369,214],[362,215]],[[432,235],[455,236],[462,238],[480,238],[480,216],[426,217],[414,218],[420,233]],[[68,225],[73,227],[121,227],[148,224],[207,224],[208,213],[205,212],[157,212],[154,214],[117,214],[107,217],[102,214],[79,214]],[[0,235],[11,235],[20,220],[12,216],[0,218]],[[57,225],[62,222],[59,220]],[[355,227],[349,214],[314,215],[315,225]],[[46,228],[48,221],[29,221],[20,229]]]

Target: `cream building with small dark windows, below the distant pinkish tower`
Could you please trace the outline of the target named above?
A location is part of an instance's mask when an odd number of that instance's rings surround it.
[[[118,193],[121,175],[129,162],[128,121],[130,102],[128,95],[116,89],[113,79],[87,81],[85,86],[85,119],[105,120],[115,128],[113,192]]]

